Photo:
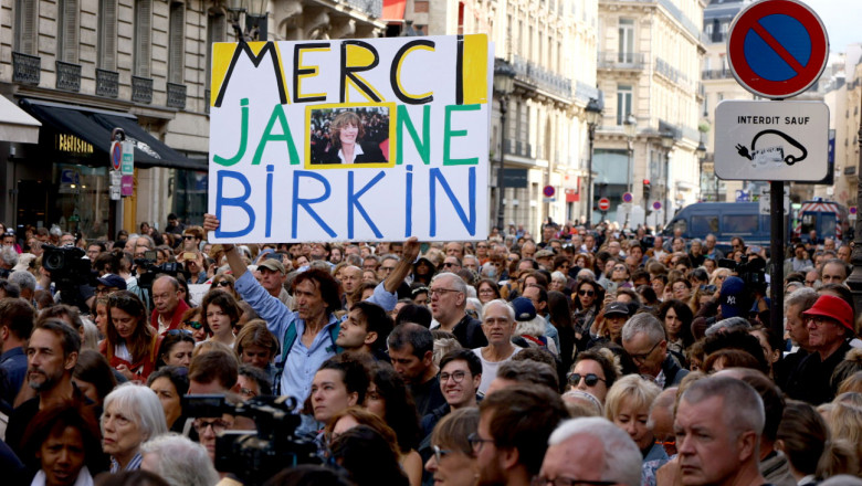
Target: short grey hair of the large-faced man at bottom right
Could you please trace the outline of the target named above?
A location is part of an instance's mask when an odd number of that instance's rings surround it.
[[[707,377],[692,383],[682,394],[680,402],[700,403],[714,397],[724,400],[722,420],[724,425],[740,433],[754,431],[757,442],[764,433],[766,412],[764,401],[750,384],[729,377]]]

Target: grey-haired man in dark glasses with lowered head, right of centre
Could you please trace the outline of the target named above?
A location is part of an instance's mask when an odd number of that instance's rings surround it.
[[[651,377],[661,388],[679,387],[688,370],[667,352],[667,335],[662,323],[651,314],[635,314],[622,327],[622,347],[638,372]]]

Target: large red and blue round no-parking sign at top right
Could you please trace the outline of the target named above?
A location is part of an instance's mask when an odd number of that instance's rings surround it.
[[[829,60],[820,17],[797,0],[761,0],[736,15],[727,36],[730,71],[766,98],[796,96],[817,82]]]

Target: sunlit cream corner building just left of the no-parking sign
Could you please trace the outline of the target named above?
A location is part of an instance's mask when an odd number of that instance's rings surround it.
[[[610,200],[605,216],[611,221],[633,228],[645,215],[648,225],[664,224],[700,197],[704,7],[702,0],[599,1],[606,109],[596,135],[595,192]],[[596,212],[593,221],[600,218]]]

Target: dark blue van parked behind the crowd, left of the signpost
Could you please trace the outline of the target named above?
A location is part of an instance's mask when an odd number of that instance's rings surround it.
[[[714,234],[722,250],[730,247],[734,236],[746,245],[769,247],[769,215],[760,214],[759,207],[757,202],[697,202],[676,213],[661,234],[672,237],[679,228],[686,240]]]

